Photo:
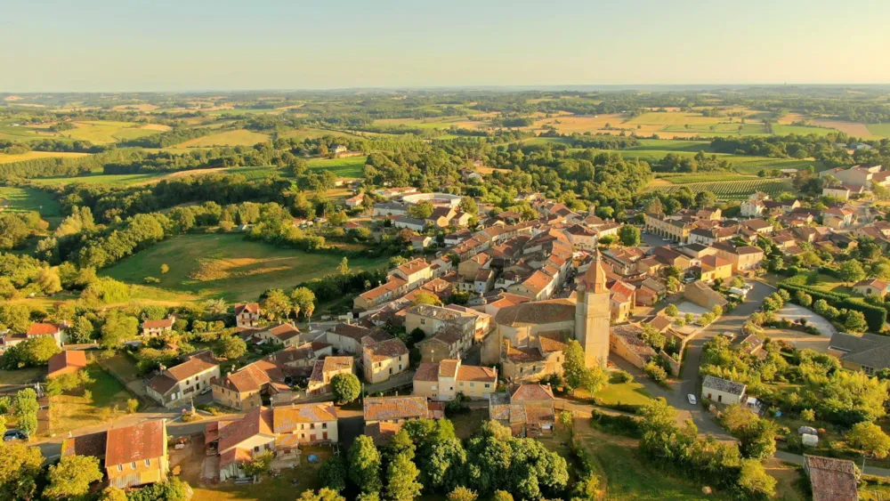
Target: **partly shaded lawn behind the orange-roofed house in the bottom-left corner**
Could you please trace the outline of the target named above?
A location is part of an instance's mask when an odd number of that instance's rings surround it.
[[[87,368],[93,383],[83,389],[50,397],[50,433],[65,433],[82,426],[100,424],[100,409],[117,407],[126,411],[126,400],[134,395],[123,384],[96,364]],[[93,393],[93,400],[86,400],[84,390]]]

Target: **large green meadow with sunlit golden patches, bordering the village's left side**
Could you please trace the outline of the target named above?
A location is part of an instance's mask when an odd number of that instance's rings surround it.
[[[255,300],[269,288],[288,288],[336,271],[342,259],[331,253],[307,254],[244,239],[241,234],[182,235],[130,256],[103,271],[118,280],[142,284],[145,277],[162,289],[191,299],[223,297],[227,301]],[[376,269],[386,258],[352,259],[352,269]],[[161,274],[161,264],[170,271]]]

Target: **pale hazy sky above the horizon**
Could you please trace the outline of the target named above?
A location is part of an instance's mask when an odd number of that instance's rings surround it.
[[[0,92],[888,84],[890,0],[4,0]]]

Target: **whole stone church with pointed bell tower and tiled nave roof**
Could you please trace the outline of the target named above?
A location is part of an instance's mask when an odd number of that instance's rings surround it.
[[[484,364],[501,364],[514,381],[536,381],[562,372],[570,339],[584,348],[588,367],[609,359],[610,302],[606,272],[597,251],[576,292],[568,298],[520,303],[498,311],[496,328],[482,350]]]

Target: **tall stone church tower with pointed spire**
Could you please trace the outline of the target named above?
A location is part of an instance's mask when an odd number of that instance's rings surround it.
[[[584,348],[587,367],[606,367],[609,360],[609,289],[600,251],[584,276],[578,280],[578,306],[575,308],[575,339]]]

